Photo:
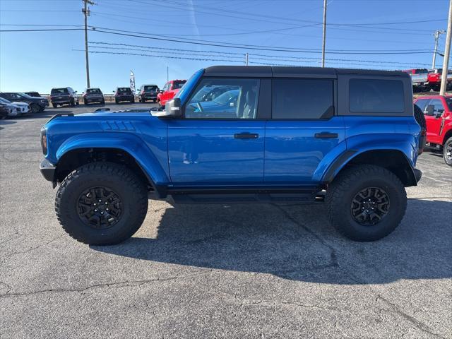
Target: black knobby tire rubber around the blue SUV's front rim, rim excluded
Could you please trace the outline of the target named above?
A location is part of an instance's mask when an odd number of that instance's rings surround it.
[[[122,214],[108,228],[86,225],[78,215],[78,199],[83,191],[103,186],[117,192]],[[130,169],[112,162],[97,162],[78,167],[61,183],[55,198],[55,211],[63,229],[78,242],[112,245],[129,239],[143,223],[148,211],[145,184]]]

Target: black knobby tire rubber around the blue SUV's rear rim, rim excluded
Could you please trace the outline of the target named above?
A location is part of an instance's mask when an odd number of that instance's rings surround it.
[[[362,225],[352,216],[352,199],[359,191],[376,187],[386,191],[390,207],[376,225]],[[355,165],[343,169],[326,191],[331,225],[345,237],[357,242],[372,242],[393,232],[407,207],[405,187],[393,172],[375,165]]]

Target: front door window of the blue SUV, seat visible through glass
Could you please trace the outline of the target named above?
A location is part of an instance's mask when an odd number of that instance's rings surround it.
[[[258,79],[205,78],[185,107],[191,119],[256,119]]]

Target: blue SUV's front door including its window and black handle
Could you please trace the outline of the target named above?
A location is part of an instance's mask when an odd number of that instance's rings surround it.
[[[174,186],[263,182],[265,121],[258,120],[260,81],[203,78],[168,121],[169,172]],[[215,95],[205,95],[215,89]]]

